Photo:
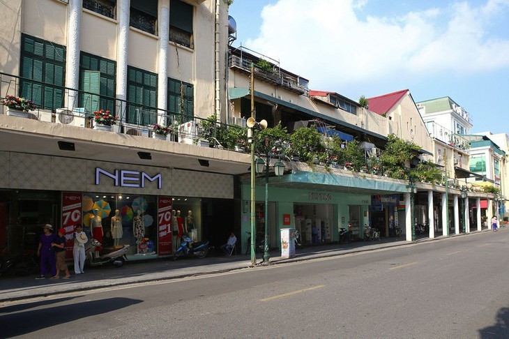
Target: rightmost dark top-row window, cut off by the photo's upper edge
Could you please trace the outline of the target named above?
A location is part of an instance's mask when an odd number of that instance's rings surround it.
[[[180,0],[169,3],[169,40],[194,48],[192,42],[192,6]]]

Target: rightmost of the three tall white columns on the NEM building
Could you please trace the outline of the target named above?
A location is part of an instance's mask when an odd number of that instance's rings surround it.
[[[168,43],[169,43],[169,0],[161,0],[159,7],[159,53],[158,53],[158,123],[166,125],[168,96]]]

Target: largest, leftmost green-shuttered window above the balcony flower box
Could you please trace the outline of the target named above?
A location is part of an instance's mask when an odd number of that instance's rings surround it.
[[[20,96],[38,107],[63,107],[66,47],[22,34]],[[33,81],[29,81],[33,80]]]

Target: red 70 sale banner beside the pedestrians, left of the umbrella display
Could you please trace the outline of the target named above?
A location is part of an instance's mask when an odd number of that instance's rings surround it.
[[[66,261],[73,260],[73,232],[82,225],[82,193],[62,193],[62,228],[66,229]]]

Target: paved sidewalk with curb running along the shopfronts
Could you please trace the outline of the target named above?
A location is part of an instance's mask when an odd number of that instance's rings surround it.
[[[418,242],[429,240],[434,239],[418,239]],[[279,252],[272,252],[270,262],[271,264],[284,264],[286,262],[333,257],[409,244],[411,243],[404,241],[402,238],[392,238],[374,242],[358,241],[340,245],[335,243],[323,246],[310,246],[296,250],[296,257],[289,259],[280,257]],[[260,257],[261,255],[257,255],[257,262],[261,262]],[[231,257],[209,256],[204,259],[179,258],[173,261],[169,258],[151,260],[149,262],[126,262],[121,268],[115,268],[111,265],[85,268],[85,273],[82,275],[75,276],[71,273],[72,277],[69,280],[36,280],[35,276],[6,277],[0,278],[0,303],[65,292],[220,273],[236,269],[246,269],[250,266],[250,255],[232,255]],[[73,272],[72,269],[70,271]]]

